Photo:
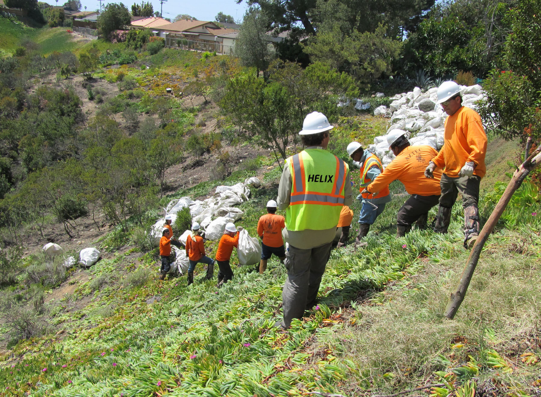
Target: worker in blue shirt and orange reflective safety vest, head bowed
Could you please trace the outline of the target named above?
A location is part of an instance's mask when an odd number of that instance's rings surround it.
[[[361,213],[359,214],[359,234],[355,243],[358,244],[370,230],[370,225],[375,222],[379,214],[385,209],[385,204],[391,201],[391,193],[388,187],[375,193],[368,193],[365,188],[381,174],[383,166],[378,156],[364,150],[359,142],[351,142],[347,145],[347,154],[353,158],[353,164],[361,169],[359,189],[361,195]]]

